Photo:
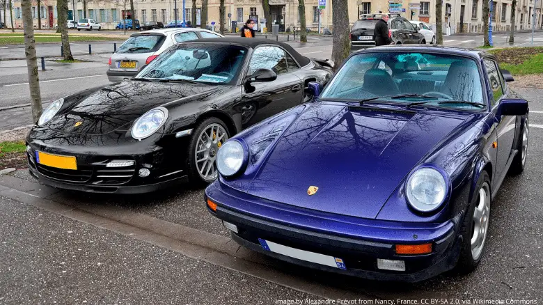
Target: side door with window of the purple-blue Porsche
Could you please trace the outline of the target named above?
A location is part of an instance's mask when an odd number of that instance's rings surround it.
[[[494,114],[494,125],[496,127],[496,183],[501,183],[501,180],[507,173],[507,162],[512,157],[514,132],[517,123],[516,116],[502,116],[499,111],[501,100],[505,97],[503,77],[500,77],[498,64],[494,59],[485,58],[485,71],[490,93],[490,102],[492,114]]]

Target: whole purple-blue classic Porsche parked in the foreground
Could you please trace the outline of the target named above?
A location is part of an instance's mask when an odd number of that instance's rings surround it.
[[[485,248],[505,259],[491,209],[527,207],[492,201],[524,171],[529,109],[498,67],[457,47],[356,52],[321,94],[309,84],[313,102],[222,143],[207,210],[248,249],[367,279],[467,274]]]

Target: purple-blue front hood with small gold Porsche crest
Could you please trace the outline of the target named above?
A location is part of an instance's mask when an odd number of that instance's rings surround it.
[[[248,193],[302,208],[375,218],[409,171],[464,119],[315,104],[278,139]],[[311,186],[318,190],[308,195]]]

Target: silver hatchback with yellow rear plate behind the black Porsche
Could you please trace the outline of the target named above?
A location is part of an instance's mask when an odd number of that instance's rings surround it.
[[[132,34],[120,45],[111,58],[107,77],[109,81],[122,81],[134,77],[159,54],[178,42],[200,38],[223,37],[205,29],[156,29]]]

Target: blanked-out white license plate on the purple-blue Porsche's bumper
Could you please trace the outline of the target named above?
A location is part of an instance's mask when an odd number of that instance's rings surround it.
[[[339,269],[347,269],[347,267],[345,267],[345,262],[343,262],[343,259],[341,258],[325,256],[324,254],[320,253],[283,246],[282,244],[276,244],[275,242],[270,242],[269,240],[262,240],[262,238],[259,238],[258,241],[260,242],[262,249],[265,249],[266,251],[283,254],[284,256],[305,260],[306,262],[310,263],[316,263]]]

